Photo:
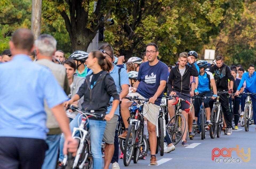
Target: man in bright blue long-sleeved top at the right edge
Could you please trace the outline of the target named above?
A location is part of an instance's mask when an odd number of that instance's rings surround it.
[[[244,81],[246,82],[246,87],[243,92],[247,93],[256,93],[256,75],[255,75],[255,68],[254,65],[250,64],[248,68],[248,72],[244,73],[242,76],[242,79],[239,83],[239,86],[237,87],[237,92],[235,92],[235,95],[239,95],[239,90],[243,86]],[[242,95],[241,97],[241,109],[242,111],[245,111],[245,100],[246,100],[247,95]],[[256,112],[256,96],[253,95],[251,96],[251,101],[253,103],[253,112]],[[254,119],[254,124],[256,124],[256,113],[253,113],[253,119]],[[256,128],[255,128],[256,131]]]

